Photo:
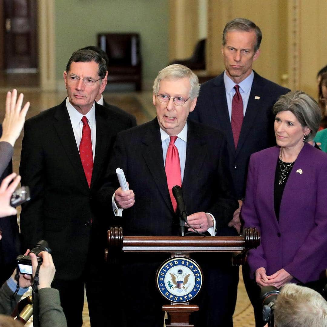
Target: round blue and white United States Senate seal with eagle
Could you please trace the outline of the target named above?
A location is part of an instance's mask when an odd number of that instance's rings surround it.
[[[190,301],[198,294],[201,286],[201,268],[190,258],[172,257],[157,271],[157,288],[169,301]]]

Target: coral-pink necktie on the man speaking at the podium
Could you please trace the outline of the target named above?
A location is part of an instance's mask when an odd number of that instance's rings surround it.
[[[170,136],[170,142],[166,155],[165,171],[167,177],[167,184],[171,203],[173,204],[174,211],[176,211],[177,203],[173,196],[172,188],[175,185],[182,186],[181,179],[181,163],[180,156],[178,154],[178,149],[175,145],[177,136]]]

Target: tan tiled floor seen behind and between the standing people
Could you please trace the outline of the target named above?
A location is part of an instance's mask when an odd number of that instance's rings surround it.
[[[21,92],[22,90],[18,89],[18,92]],[[5,88],[0,89],[0,103],[3,104],[3,110],[0,112],[0,121],[2,121],[4,117],[6,91],[8,90]],[[31,102],[31,108],[27,114],[28,117],[34,116],[47,108],[59,104],[66,96],[65,93],[38,92],[32,91],[31,89],[24,90],[24,94],[25,101]],[[155,116],[155,110],[152,105],[152,93],[150,91],[142,93],[107,93],[104,96],[109,103],[134,114],[137,118],[138,124],[145,123]],[[22,136],[15,144],[13,157],[13,168],[15,172],[18,172],[19,170],[21,142]],[[233,320],[235,327],[254,326],[253,310],[245,292],[242,274],[240,274],[238,298]],[[83,321],[84,327],[90,326],[87,301],[85,301],[84,305]],[[32,326],[32,321],[30,321],[26,326]]]

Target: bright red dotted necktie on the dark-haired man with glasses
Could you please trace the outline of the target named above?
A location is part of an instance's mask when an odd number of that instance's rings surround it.
[[[87,123],[87,118],[83,116],[83,131],[82,139],[79,144],[79,156],[81,157],[85,177],[89,187],[91,185],[92,170],[93,170],[93,151],[92,151],[92,140],[91,140],[91,129]]]

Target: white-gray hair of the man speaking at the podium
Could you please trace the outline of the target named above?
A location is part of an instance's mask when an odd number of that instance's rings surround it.
[[[189,96],[191,100],[194,100],[198,97],[200,91],[198,76],[190,68],[177,64],[169,65],[158,73],[158,76],[153,82],[153,94],[158,95],[159,84],[162,79],[179,79],[184,77],[188,77],[190,80],[191,89]]]

